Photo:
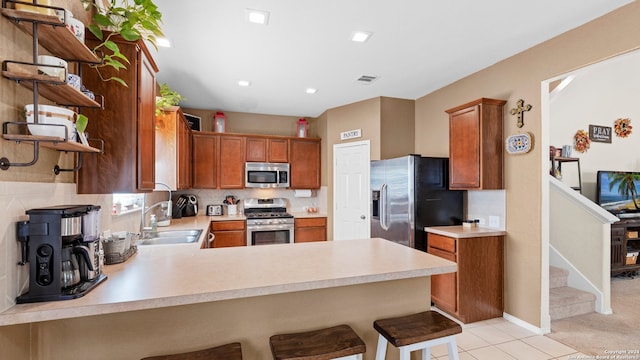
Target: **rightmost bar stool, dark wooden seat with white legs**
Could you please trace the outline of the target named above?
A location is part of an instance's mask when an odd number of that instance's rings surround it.
[[[440,344],[447,344],[449,360],[459,359],[455,335],[462,327],[435,311],[376,320],[373,327],[380,333],[376,360],[385,359],[387,341],[400,350],[400,360],[409,360],[415,350],[422,350],[422,360],[429,360],[431,347]]]

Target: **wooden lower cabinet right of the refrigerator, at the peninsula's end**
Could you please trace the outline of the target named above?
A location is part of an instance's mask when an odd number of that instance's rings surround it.
[[[454,261],[458,272],[431,276],[431,301],[463,323],[504,311],[504,236],[452,238],[429,233],[429,254]]]

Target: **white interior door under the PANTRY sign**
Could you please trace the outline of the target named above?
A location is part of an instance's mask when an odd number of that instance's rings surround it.
[[[333,146],[333,240],[371,237],[369,140]]]

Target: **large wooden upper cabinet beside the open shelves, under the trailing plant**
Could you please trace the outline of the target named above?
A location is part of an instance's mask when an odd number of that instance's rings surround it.
[[[127,87],[115,81],[103,81],[87,65],[82,65],[82,83],[87,89],[104,96],[104,109],[83,108],[89,118],[90,138],[104,141],[103,154],[85,154],[77,173],[79,194],[135,193],[155,188],[155,89],[158,68],[144,42],[113,40],[131,62],[126,69],[100,69],[105,78],[116,76]],[[87,46],[97,40],[87,34]]]

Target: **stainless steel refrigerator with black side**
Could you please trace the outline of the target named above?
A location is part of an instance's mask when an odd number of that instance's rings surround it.
[[[426,251],[425,226],[462,223],[464,192],[448,188],[448,158],[372,161],[371,236]]]

